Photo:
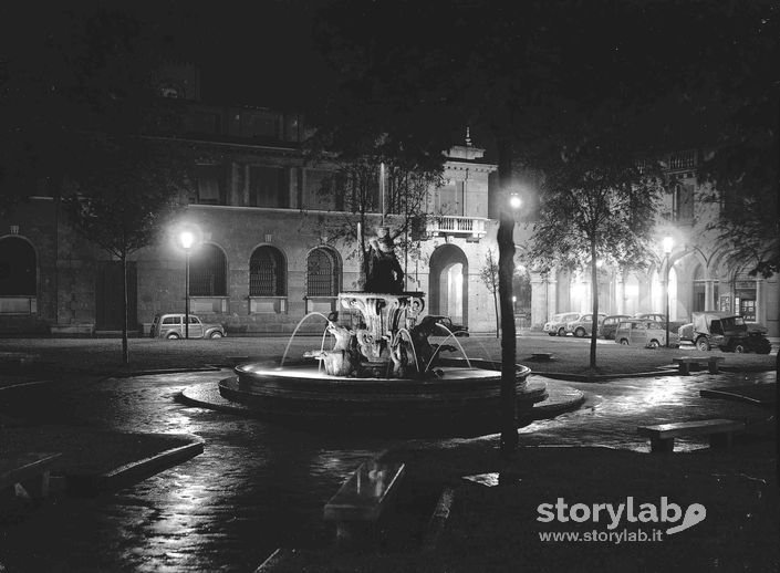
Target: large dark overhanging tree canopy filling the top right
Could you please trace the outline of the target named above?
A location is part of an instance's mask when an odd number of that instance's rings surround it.
[[[316,35],[342,101],[381,107],[385,125],[395,114],[394,133],[415,140],[448,122],[471,125],[489,139],[506,188],[514,166],[559,169],[561,154],[611,136],[657,155],[711,143],[728,131],[721,95],[746,110],[757,76],[780,85],[779,20],[776,0],[341,0],[320,14]]]

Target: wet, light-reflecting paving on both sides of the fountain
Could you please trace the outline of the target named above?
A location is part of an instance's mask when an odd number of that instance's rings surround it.
[[[118,493],[46,503],[0,522],[0,563],[17,571],[253,571],[275,548],[332,541],[322,508],[364,459],[401,441],[303,431],[205,408],[175,397],[227,373],[44,383],[3,392],[20,416],[110,429],[195,434],[204,454]],[[534,379],[541,379],[534,377]],[[522,429],[526,446],[609,446],[647,451],[636,426],[703,417],[759,423],[771,411],[703,398],[699,390],[774,382],[774,373],[708,373],[557,382],[581,389],[576,411]],[[10,402],[9,402],[10,400]],[[680,441],[678,449],[704,447]]]

